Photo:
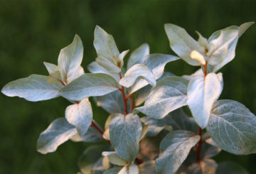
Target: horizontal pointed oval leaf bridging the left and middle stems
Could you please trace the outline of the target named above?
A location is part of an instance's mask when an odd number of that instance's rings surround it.
[[[110,75],[88,73],[61,89],[60,95],[66,99],[78,101],[87,97],[105,95],[117,89],[117,81]]]

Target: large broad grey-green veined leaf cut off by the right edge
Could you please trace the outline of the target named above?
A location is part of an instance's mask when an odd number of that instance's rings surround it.
[[[256,153],[256,117],[239,102],[215,102],[206,129],[224,151],[238,155]]]

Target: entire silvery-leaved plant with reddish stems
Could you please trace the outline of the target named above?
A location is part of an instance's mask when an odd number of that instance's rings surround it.
[[[68,140],[107,141],[108,145],[92,145],[82,154],[83,174],[247,173],[234,169],[233,163],[218,165],[210,158],[221,149],[238,155],[256,153],[256,116],[239,102],[218,100],[224,83],[222,73],[217,73],[235,58],[238,39],[252,23],[215,31],[208,39],[196,31],[198,40],[168,23],[166,35],[178,57],[150,54],[144,43],[127,60],[129,50],[120,53],[113,36],[96,26],[97,58],[87,65],[90,73],[81,66],[82,40],[75,35],[60,50],[58,65],[43,62],[48,76],[14,80],[1,92],[31,102],[68,99],[72,104],[65,117],[41,133],[37,148],[50,153]],[[164,72],[167,63],[180,58],[201,68],[182,77]],[[93,120],[90,97],[111,114],[105,129]],[[186,106],[191,116],[183,111]]]

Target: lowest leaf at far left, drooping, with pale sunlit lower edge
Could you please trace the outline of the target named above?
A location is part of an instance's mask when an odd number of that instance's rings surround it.
[[[75,126],[68,124],[65,118],[55,119],[55,121],[40,134],[37,142],[37,150],[43,154],[54,152],[60,144],[68,141],[68,139],[76,133],[77,130]]]

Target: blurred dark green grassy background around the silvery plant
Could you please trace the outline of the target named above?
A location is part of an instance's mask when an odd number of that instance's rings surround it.
[[[256,1],[55,1],[0,0],[0,87],[31,74],[47,75],[43,61],[57,63],[61,48],[77,33],[85,48],[82,66],[95,59],[92,45],[95,25],[111,33],[120,51],[149,43],[151,53],[172,53],[164,23],[210,36],[213,31],[247,21],[256,21]],[[256,25],[239,40],[236,57],[223,67],[224,89],[220,98],[234,99],[256,113]],[[174,54],[174,53],[172,53]],[[166,70],[176,75],[197,68],[182,60]],[[75,173],[78,158],[90,143],[68,141],[55,153],[42,155],[36,141],[53,119],[64,116],[65,99],[27,102],[0,94],[0,173]],[[107,112],[93,104],[101,124]],[[256,136],[256,135],[255,135]],[[216,161],[235,161],[256,173],[255,155],[233,156],[222,152]]]

